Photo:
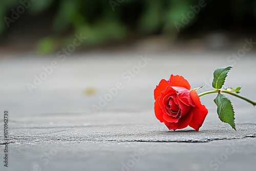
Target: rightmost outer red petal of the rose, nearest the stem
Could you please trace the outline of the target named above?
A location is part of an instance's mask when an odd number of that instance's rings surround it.
[[[208,110],[205,108],[205,105],[201,104],[200,98],[195,90],[190,91],[190,96],[196,103],[196,106],[190,110],[193,113],[193,117],[189,123],[189,126],[193,127],[196,131],[199,131],[199,128],[202,126]]]

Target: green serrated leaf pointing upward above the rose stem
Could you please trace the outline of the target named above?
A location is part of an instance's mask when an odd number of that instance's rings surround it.
[[[212,81],[212,87],[215,89],[221,89],[225,79],[227,77],[228,71],[232,68],[232,66],[228,66],[226,68],[218,68],[214,72],[214,80]]]

